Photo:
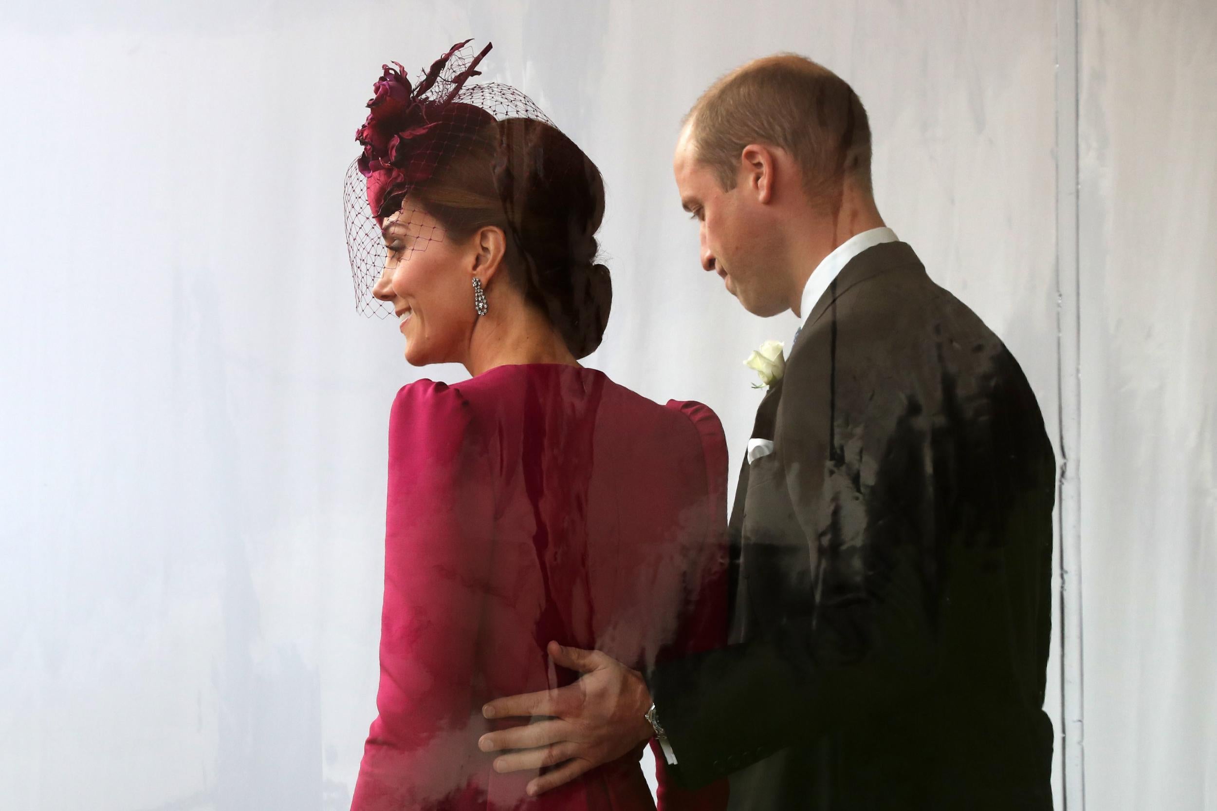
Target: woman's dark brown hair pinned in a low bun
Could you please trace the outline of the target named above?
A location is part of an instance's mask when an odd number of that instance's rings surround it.
[[[600,170],[545,122],[484,113],[483,122],[410,197],[454,239],[501,228],[509,278],[571,353],[587,357],[600,346],[612,306],[608,268],[596,263],[605,211]]]

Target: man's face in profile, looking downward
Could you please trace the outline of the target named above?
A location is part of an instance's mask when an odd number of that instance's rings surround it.
[[[789,307],[775,262],[776,234],[742,161],[735,188],[723,190],[718,178],[696,156],[686,125],[672,160],[680,203],[699,224],[701,267],[717,273],[744,308],[776,315]]]

